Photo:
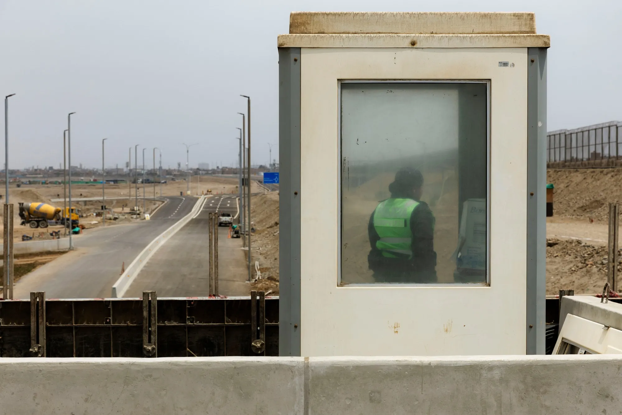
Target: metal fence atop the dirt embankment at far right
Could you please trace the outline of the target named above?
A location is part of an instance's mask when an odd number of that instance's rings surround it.
[[[547,166],[622,166],[622,122],[550,131],[547,133]]]

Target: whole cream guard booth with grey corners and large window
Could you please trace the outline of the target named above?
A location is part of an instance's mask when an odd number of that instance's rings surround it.
[[[278,46],[279,353],[544,354],[534,14],[296,12]]]

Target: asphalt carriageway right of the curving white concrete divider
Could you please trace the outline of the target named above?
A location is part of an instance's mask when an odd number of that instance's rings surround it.
[[[158,297],[207,297],[209,295],[208,213],[236,216],[236,196],[211,196],[203,209],[172,236],[132,282],[125,297],[141,297],[155,290]],[[219,294],[249,295],[248,270],[241,239],[229,239],[228,227],[218,228]]]

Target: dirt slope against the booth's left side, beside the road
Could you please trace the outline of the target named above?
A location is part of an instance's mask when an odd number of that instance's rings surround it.
[[[254,290],[272,290],[279,293],[279,194],[271,192],[253,196],[251,217],[255,233],[251,237],[254,259],[259,261],[261,280],[254,282]],[[254,274],[254,272],[253,272]]]

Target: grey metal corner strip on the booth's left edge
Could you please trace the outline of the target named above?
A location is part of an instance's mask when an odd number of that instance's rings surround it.
[[[300,48],[279,48],[279,356],[300,356]]]

